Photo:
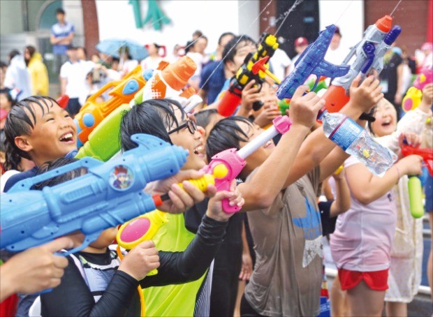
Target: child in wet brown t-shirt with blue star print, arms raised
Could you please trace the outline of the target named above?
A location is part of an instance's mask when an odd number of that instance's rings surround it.
[[[342,110],[355,119],[382,97],[376,89],[378,80],[367,78],[358,84],[359,80],[353,82],[351,101]],[[268,142],[248,156],[240,173],[246,179],[238,186],[245,198],[242,210],[254,211],[248,219],[256,251],[256,266],[241,302],[242,316],[318,316],[320,312],[323,269],[316,193],[318,184],[347,155],[325,138],[321,128],[301,147],[323,105],[314,93],[302,96],[305,91],[306,86],[298,88],[291,101],[291,130],[277,147]],[[210,133],[207,156],[242,148],[261,131],[247,119],[223,119]]]

